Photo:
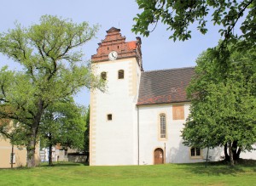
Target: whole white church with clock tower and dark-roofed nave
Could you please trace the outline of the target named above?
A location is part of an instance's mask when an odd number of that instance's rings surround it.
[[[205,161],[207,149],[184,146],[181,138],[195,69],[144,71],[141,46],[140,37],[126,42],[112,27],[91,56],[107,87],[90,92],[90,166]],[[223,148],[209,150],[211,161],[222,154]]]

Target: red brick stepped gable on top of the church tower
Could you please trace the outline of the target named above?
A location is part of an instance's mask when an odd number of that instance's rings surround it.
[[[92,62],[108,61],[108,54],[116,51],[118,53],[117,60],[135,57],[142,67],[142,41],[140,37],[136,37],[136,41],[125,42],[125,37],[120,34],[120,29],[112,27],[106,32],[105,39],[98,43],[97,53],[91,56]]]

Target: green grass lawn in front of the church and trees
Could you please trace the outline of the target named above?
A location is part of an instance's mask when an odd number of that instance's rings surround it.
[[[158,166],[84,166],[58,163],[36,168],[0,169],[0,185],[256,185],[256,164],[215,163]]]

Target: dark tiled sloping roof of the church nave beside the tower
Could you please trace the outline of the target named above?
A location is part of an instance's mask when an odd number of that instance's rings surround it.
[[[187,102],[188,87],[195,68],[142,72],[137,105]]]

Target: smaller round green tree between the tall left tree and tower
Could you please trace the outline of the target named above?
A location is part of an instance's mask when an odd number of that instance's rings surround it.
[[[49,166],[53,166],[52,147],[61,144],[63,149],[83,149],[85,108],[76,105],[72,98],[55,102],[44,110],[39,132],[49,148]]]

